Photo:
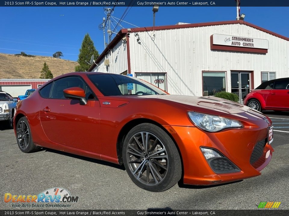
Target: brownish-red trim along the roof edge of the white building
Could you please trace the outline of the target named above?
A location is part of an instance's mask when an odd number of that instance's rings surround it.
[[[228,25],[228,24],[243,24],[246,26],[250,26],[254,29],[258,29],[262,32],[266,32],[270,35],[274,35],[278,38],[284,39],[286,41],[289,41],[289,38],[279,35],[275,32],[271,32],[267,29],[263,29],[259,26],[253,25],[249,22],[245,22],[243,20],[232,20],[232,21],[220,21],[220,22],[202,22],[202,23],[194,23],[194,24],[182,24],[182,25],[170,25],[170,26],[155,26],[153,27],[142,27],[142,28],[131,28],[131,31],[128,31],[128,29],[121,29],[117,35],[113,38],[113,40],[108,44],[108,46],[104,49],[104,51],[99,55],[99,57],[96,59],[96,64],[101,61],[101,59],[104,57],[104,55],[109,51],[109,49],[113,48],[123,37],[124,34],[129,32],[147,32],[147,31],[158,31],[158,30],[168,30],[168,29],[185,29],[185,28],[194,28],[194,27],[203,27],[203,26],[217,26],[217,25]],[[92,64],[88,71],[91,71],[92,68],[95,66],[95,63]]]

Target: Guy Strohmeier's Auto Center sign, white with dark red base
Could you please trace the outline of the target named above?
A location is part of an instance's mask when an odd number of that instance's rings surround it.
[[[267,53],[269,41],[259,38],[213,34],[211,35],[211,49]]]

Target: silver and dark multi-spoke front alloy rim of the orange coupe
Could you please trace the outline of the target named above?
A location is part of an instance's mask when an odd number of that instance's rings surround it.
[[[154,134],[141,131],[131,137],[126,159],[132,175],[145,185],[163,182],[168,173],[169,158],[165,146]]]

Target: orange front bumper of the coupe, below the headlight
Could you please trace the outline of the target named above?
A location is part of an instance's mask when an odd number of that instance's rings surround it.
[[[176,131],[172,136],[181,152],[185,184],[222,184],[259,176],[259,171],[269,164],[274,151],[272,146],[266,143],[260,158],[253,164],[250,163],[254,147],[268,135],[267,127],[227,129],[217,133],[205,132],[197,127],[172,128]],[[216,149],[239,168],[238,172],[214,172],[200,147]]]

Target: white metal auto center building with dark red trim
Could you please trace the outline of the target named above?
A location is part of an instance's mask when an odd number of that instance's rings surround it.
[[[289,77],[289,38],[243,20],[122,29],[89,71],[132,74],[169,94],[243,98]]]

